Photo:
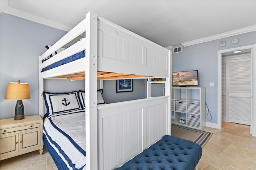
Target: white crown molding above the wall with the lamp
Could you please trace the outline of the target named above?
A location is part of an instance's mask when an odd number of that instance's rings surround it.
[[[1,0],[0,0],[0,2],[1,2]],[[2,10],[2,8],[0,10]],[[20,17],[20,18],[24,18],[26,20],[30,20],[30,21],[33,21],[33,22],[36,22],[36,23],[39,23],[39,24],[50,26],[52,28],[57,28],[59,30],[63,30],[63,31],[66,31],[66,32],[69,32],[72,29],[72,27],[70,27],[70,26],[60,24],[56,21],[40,17],[40,16],[37,16],[37,15],[31,14],[29,12],[24,12],[22,10],[18,10],[17,8],[12,8],[10,6],[8,6],[3,12],[6,13],[6,14],[10,14],[10,15],[17,16],[17,17]]]

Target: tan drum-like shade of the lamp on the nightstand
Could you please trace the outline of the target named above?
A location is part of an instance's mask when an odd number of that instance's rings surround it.
[[[4,99],[15,99],[15,100],[22,100],[22,99],[30,99],[30,91],[29,91],[29,84],[28,83],[8,83],[8,87],[4,96]]]

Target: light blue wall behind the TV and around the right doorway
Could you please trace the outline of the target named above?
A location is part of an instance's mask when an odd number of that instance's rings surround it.
[[[239,42],[232,44],[233,38],[238,38]],[[226,40],[226,46],[219,47],[220,40]],[[220,40],[182,47],[181,53],[172,55],[172,72],[198,70],[199,86],[206,87],[206,103],[212,114],[212,120],[206,119],[206,121],[210,123],[217,123],[217,52],[223,49],[256,44],[256,32],[240,34]],[[214,82],[214,87],[209,86],[210,82]]]

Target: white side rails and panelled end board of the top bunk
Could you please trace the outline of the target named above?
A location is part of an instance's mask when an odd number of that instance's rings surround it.
[[[80,36],[86,31],[86,24],[90,24],[85,18],[77,26],[75,26],[70,32],[63,36],[58,42],[56,42],[50,49],[39,56],[39,72],[46,67],[62,59],[66,59],[70,55],[78,53],[86,49],[87,42],[86,37],[74,43],[67,49],[54,55],[50,59],[47,59],[42,63],[46,57],[54,53],[67,43]],[[98,17],[98,35],[95,38],[97,40],[97,58],[98,58],[98,71],[105,71],[110,73],[129,73],[131,75],[144,75],[141,77],[168,77],[169,65],[170,65],[170,51],[154,42],[130,32],[104,18]],[[86,35],[90,34],[90,30],[86,32]],[[90,37],[90,39],[93,39]],[[86,59],[79,59],[82,63],[86,62]],[[77,61],[78,62],[78,61]],[[71,62],[72,63],[72,62]],[[69,64],[69,63],[68,63]],[[74,65],[70,65],[74,67]],[[67,67],[67,66],[66,66]],[[63,67],[63,68],[66,68]],[[54,70],[64,70],[62,65]],[[85,64],[76,66],[76,72],[84,72]],[[47,72],[47,71],[44,71]],[[58,71],[49,71],[51,73],[42,73],[42,78],[55,77],[64,74],[70,74],[68,71],[57,73]]]

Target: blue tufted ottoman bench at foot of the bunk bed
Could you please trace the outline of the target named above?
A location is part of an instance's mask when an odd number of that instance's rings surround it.
[[[199,144],[166,135],[116,170],[194,170],[201,156]]]

